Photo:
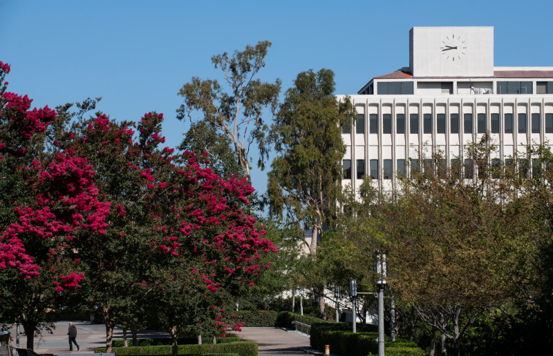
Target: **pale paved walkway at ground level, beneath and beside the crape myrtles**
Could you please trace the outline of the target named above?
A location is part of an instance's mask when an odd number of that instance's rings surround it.
[[[94,348],[106,345],[106,327],[104,324],[90,324],[88,322],[73,322],[77,327],[77,344],[80,350],[73,348],[73,354],[94,353]],[[55,323],[52,334],[44,333],[41,338],[35,337],[36,353],[67,353],[69,351],[67,329],[69,322]],[[8,330],[15,345],[15,326]],[[21,328],[23,332],[23,328]],[[236,333],[242,339],[257,342],[259,344],[259,356],[297,356],[306,355],[312,351],[309,348],[309,337],[283,328],[242,328],[242,332]],[[128,335],[131,342],[131,335]],[[156,330],[142,330],[138,337],[169,337],[169,334]],[[122,339],[123,332],[120,328],[113,330],[113,339]],[[19,337],[19,345],[25,347],[27,339],[24,335]],[[323,355],[323,353],[314,353]],[[76,355],[75,355],[76,356]]]

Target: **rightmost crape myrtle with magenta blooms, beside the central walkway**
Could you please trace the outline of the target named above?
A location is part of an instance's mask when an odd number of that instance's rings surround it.
[[[219,177],[207,153],[198,158],[185,151],[167,165],[149,186],[147,201],[156,221],[151,258],[160,261],[152,283],[159,286],[160,322],[176,355],[183,331],[212,336],[239,330],[241,324],[228,323],[225,305],[254,286],[254,277],[270,267],[262,256],[277,248],[245,212],[254,191],[245,177]]]

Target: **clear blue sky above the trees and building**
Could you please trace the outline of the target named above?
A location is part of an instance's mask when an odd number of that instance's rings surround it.
[[[280,78],[284,92],[299,72],[329,68],[336,93],[355,94],[409,66],[413,26],[494,26],[495,66],[553,66],[552,13],[545,0],[0,0],[0,61],[12,66],[8,90],[34,106],[102,97],[112,119],[163,112],[177,146],[177,92],[191,77],[221,79],[212,55],[269,40],[259,78]],[[253,184],[265,192],[265,172]]]

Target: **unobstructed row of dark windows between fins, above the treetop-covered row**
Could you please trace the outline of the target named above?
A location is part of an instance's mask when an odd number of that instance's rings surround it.
[[[449,130],[452,134],[458,134],[460,132],[460,120],[459,114],[449,115]],[[418,135],[419,133],[419,115],[411,114],[409,115],[409,133]],[[462,122],[462,131],[465,134],[473,133],[473,120],[472,114],[464,114]],[[446,116],[445,114],[436,115],[436,133],[444,134],[446,133]],[[491,114],[490,117],[490,127],[487,127],[486,114],[476,115],[476,133],[485,133],[489,130],[491,133],[499,133],[500,126],[503,126],[503,132],[506,134],[513,133],[514,131],[514,119],[513,114],[503,115],[503,125],[500,123],[499,114]],[[395,115],[395,131],[397,134],[405,133],[405,115],[397,114]],[[527,131],[527,115],[518,114],[518,133],[525,134]],[[530,132],[532,133],[541,133],[541,117],[540,114],[532,114],[530,121]],[[344,134],[350,133],[350,127],[344,126]],[[364,134],[365,133],[365,116],[360,114],[357,115],[357,122],[355,123],[355,133]],[[378,133],[378,115],[371,114],[368,115],[368,133],[377,134]],[[392,115],[384,114],[382,115],[382,133],[391,134],[392,133]],[[432,115],[424,114],[422,115],[422,133],[431,134],[432,133]],[[553,133],[553,114],[545,114],[545,133]]]

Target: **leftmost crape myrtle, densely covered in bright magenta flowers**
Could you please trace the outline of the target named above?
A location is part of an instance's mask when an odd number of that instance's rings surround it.
[[[0,62],[0,82],[10,66]],[[46,129],[57,113],[30,109],[31,99],[0,92],[0,296],[5,320],[17,318],[33,348],[66,290],[84,275],[68,253],[74,235],[103,235],[109,202],[100,202],[95,172],[73,148],[49,155]],[[13,213],[9,210],[12,209]]]

